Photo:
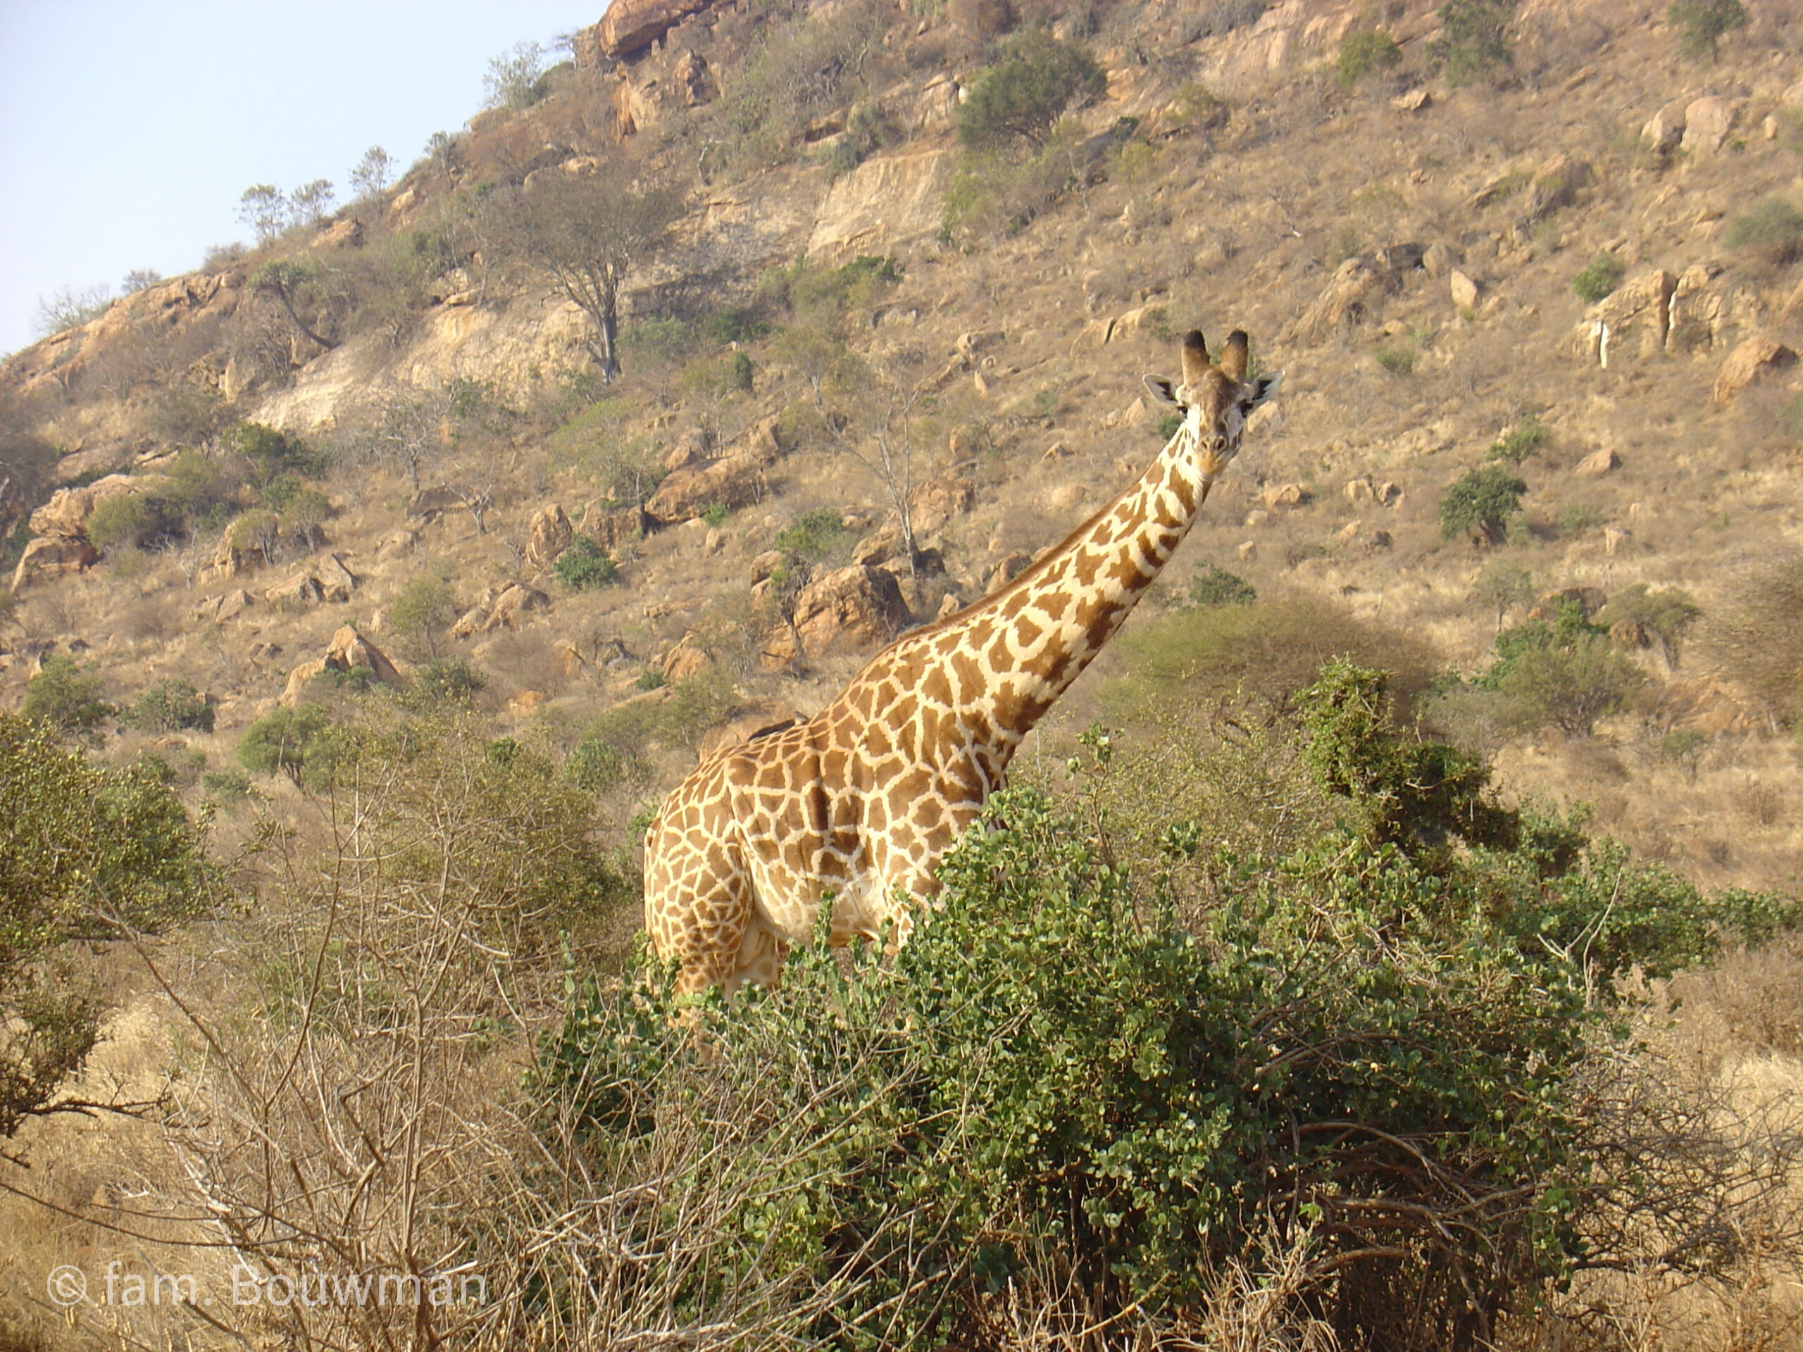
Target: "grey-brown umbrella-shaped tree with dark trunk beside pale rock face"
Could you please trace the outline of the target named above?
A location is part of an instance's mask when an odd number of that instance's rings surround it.
[[[548,274],[595,326],[590,353],[604,379],[620,375],[620,287],[656,256],[682,209],[664,184],[626,184],[626,164],[593,175],[548,175],[523,191],[501,225],[503,247]]]

